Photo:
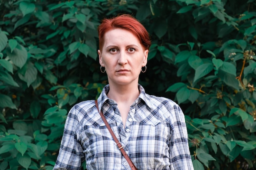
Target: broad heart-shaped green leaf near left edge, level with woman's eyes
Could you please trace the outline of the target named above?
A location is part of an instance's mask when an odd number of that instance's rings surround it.
[[[14,65],[22,68],[27,62],[27,50],[20,44],[11,52],[9,45],[6,47],[6,53],[13,62]]]

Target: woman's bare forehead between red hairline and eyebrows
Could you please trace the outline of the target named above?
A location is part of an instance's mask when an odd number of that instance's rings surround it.
[[[112,29],[107,31],[104,35],[104,39],[105,41],[103,46],[107,44],[136,44],[141,46],[139,38],[126,29]]]

